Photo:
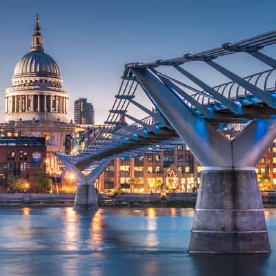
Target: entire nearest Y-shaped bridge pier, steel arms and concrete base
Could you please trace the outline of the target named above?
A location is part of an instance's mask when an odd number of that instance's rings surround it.
[[[195,115],[154,72],[131,70],[204,167],[189,252],[269,253],[255,166],[276,137],[276,120],[255,119],[229,140]]]

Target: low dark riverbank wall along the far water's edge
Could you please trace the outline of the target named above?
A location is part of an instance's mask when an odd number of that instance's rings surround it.
[[[73,206],[75,194],[0,193],[0,206]],[[195,207],[197,193],[123,194],[109,197],[99,194],[100,206]],[[276,193],[262,193],[264,207],[276,207]]]

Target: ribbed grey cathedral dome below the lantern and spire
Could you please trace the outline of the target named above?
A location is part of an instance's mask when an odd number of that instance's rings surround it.
[[[57,62],[43,51],[34,50],[24,55],[15,66],[13,77],[58,77],[60,78]]]

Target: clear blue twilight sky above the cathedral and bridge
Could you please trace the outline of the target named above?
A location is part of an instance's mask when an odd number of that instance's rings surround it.
[[[73,101],[87,97],[102,123],[125,63],[177,57],[273,30],[275,10],[275,0],[1,0],[0,121],[5,89],[15,63],[30,49],[37,12],[45,51],[70,92],[70,117]],[[241,74],[257,66],[237,64]],[[210,83],[218,80],[206,68],[191,70]]]

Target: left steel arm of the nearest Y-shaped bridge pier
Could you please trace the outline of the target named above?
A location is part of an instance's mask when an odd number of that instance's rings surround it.
[[[132,72],[203,166],[231,166],[229,159],[225,158],[225,155],[230,155],[230,141],[205,119],[193,115],[176,93],[152,72],[145,68],[132,68]]]

